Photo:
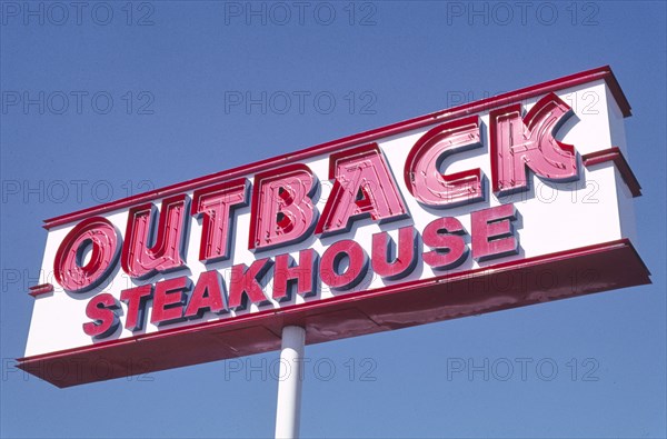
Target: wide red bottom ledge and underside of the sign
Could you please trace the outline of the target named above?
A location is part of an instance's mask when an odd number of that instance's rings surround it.
[[[19,368],[68,387],[276,350],[286,325],[305,327],[311,345],[646,285],[649,276],[630,241],[621,239],[17,361]],[[100,361],[111,366],[109,375],[96,375]],[[138,367],[142,361],[148,363]]]

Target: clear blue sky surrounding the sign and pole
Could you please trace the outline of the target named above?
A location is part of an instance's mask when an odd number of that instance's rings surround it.
[[[278,352],[63,390],[13,368],[43,219],[610,64],[653,286],[307,347],[301,432],[665,437],[666,3],[246,4],[1,3],[1,436],[273,433]]]

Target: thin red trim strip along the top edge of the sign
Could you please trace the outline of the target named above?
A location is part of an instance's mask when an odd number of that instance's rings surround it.
[[[364,131],[358,134],[352,134],[338,140],[321,143],[315,147],[303,149],[301,151],[291,152],[278,156],[270,159],[257,161],[255,163],[245,164],[238,168],[232,168],[227,171],[211,173],[209,176],[199,177],[192,180],[187,180],[180,183],[170,184],[161,189],[156,189],[149,192],[139,193],[132,197],[123,198],[116,201],[110,201],[104,204],[94,206],[88,209],[50,218],[44,221],[44,229],[50,229],[57,226],[67,225],[82,218],[110,212],[113,210],[127,208],[133,204],[148,202],[151,200],[169,197],[176,193],[186,192],[200,187],[218,183],[223,180],[245,177],[249,173],[257,173],[280,164],[286,164],[295,161],[302,161],[313,156],[325,154],[340,149],[354,147],[361,143],[372,142],[377,139],[398,134],[404,131],[415,130],[425,126],[444,122],[447,120],[457,119],[464,116],[474,114],[490,110],[496,107],[506,106],[515,102],[520,102],[536,96],[549,93],[583,83],[588,83],[597,80],[605,80],[611,94],[616,99],[624,117],[631,116],[630,104],[626,99],[616,77],[611,72],[609,66],[599,67],[597,69],[586,70],[579,73],[570,74],[551,81],[538,83],[516,91],[498,94],[492,98],[482,99],[475,102],[468,102],[459,107],[454,107],[446,110],[436,111],[430,114],[421,116],[414,119],[408,119],[402,122],[392,123],[386,127],[377,128],[369,131]]]

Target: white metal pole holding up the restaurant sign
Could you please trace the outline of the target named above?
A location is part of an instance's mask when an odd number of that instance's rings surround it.
[[[305,341],[306,330],[303,328],[293,326],[282,328],[276,439],[297,439],[299,437]]]

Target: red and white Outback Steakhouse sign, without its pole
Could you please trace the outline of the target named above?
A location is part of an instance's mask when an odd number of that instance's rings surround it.
[[[56,386],[649,283],[608,67],[49,219]]]

